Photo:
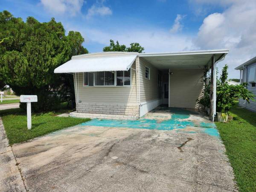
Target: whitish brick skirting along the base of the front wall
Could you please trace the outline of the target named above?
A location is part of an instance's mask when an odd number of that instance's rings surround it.
[[[77,103],[77,113],[106,114],[114,116],[139,116],[140,106],[136,104]]]

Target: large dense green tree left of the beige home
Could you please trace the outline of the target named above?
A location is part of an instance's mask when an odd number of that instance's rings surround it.
[[[54,18],[40,23],[28,17],[24,22],[8,11],[0,12],[0,81],[17,95],[38,95],[33,109],[48,110],[63,94],[73,97],[73,76],[53,71],[72,55],[87,53],[83,42],[79,32],[65,35],[64,27]],[[66,90],[61,91],[63,87]]]

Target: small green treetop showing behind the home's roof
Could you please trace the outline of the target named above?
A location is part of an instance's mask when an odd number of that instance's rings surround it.
[[[120,51],[120,52],[143,52],[144,47],[141,47],[139,43],[131,43],[131,47],[120,45],[118,41],[115,42],[111,39],[110,45],[103,48],[103,51]]]

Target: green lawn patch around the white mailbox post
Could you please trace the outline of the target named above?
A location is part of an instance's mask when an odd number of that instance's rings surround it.
[[[31,130],[27,128],[26,113],[19,108],[2,110],[0,116],[3,120],[9,144],[12,145],[90,120],[55,116],[65,112],[67,112],[67,109],[61,108],[58,111],[48,113],[32,113]]]

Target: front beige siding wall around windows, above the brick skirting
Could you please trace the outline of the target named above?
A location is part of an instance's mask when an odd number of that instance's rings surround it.
[[[135,67],[134,61],[132,68],[135,69]],[[83,73],[79,73],[79,77],[77,75],[77,81],[79,81],[79,100],[82,103],[137,104],[136,73],[134,70],[131,70],[131,86],[129,87],[84,87]]]

